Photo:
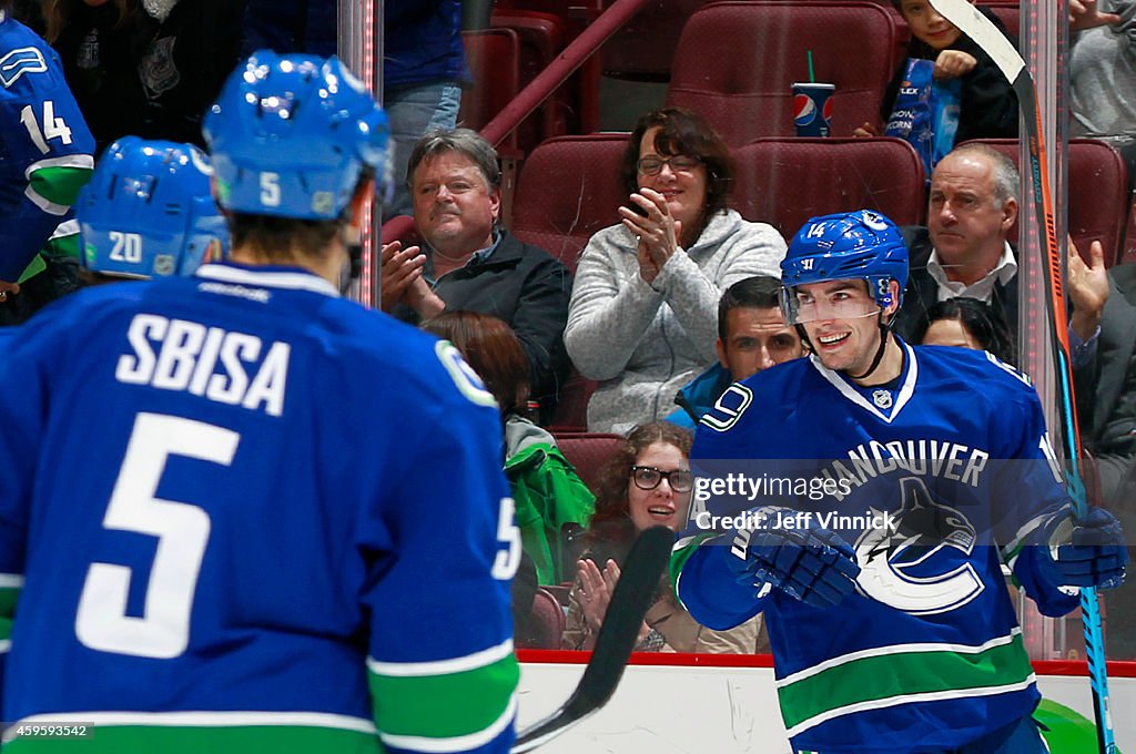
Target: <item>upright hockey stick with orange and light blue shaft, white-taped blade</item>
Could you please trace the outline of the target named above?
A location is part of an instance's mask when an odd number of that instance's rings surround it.
[[[943,17],[959,27],[994,60],[1018,94],[1026,124],[1029,145],[1029,175],[1034,184],[1034,211],[1045,242],[1045,282],[1049,287],[1047,311],[1054,336],[1054,368],[1056,372],[1060,405],[1059,411],[1064,435],[1064,450],[1069,461],[1069,495],[1078,516],[1088,509],[1085,485],[1080,478],[1080,433],[1077,427],[1077,403],[1074,400],[1072,359],[1069,349],[1069,330],[1066,326],[1064,290],[1061,282],[1061,244],[1058,243],[1056,225],[1053,220],[1053,195],[1050,192],[1049,171],[1045,162],[1045,144],[1042,140],[1041,112],[1037,109],[1037,90],[1029,75],[1029,68],[1021,55],[975,6],[967,0],[930,0]],[[1093,687],[1093,712],[1096,719],[1096,739],[1102,754],[1116,752],[1112,734],[1112,718],[1109,713],[1109,677],[1104,660],[1104,634],[1101,629],[1101,608],[1095,588],[1081,588],[1080,614],[1085,626],[1085,653],[1088,655],[1089,685]]]

